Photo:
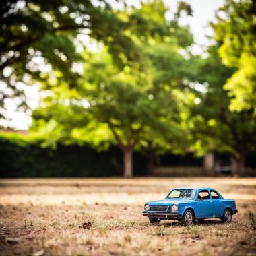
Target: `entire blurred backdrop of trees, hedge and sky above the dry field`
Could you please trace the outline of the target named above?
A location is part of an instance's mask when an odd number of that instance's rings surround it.
[[[254,0],[3,0],[0,177],[256,174]]]

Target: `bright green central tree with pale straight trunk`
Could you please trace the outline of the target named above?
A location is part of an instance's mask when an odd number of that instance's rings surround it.
[[[152,13],[152,9],[154,15],[147,24],[145,15],[148,15],[150,10]],[[188,77],[188,69],[185,56],[179,51],[187,48],[193,42],[193,38],[187,28],[178,25],[177,20],[167,22],[165,11],[162,1],[152,1],[143,4],[141,9],[133,9],[131,13],[120,12],[119,15],[128,19],[131,24],[127,33],[133,33],[132,38],[140,49],[141,59],[120,68],[106,51],[94,55],[84,53],[85,75],[75,87],[75,95],[65,94],[64,91],[58,92],[50,97],[46,109],[42,108],[34,113],[34,119],[38,119],[39,123],[43,117],[47,120],[57,120],[57,123],[65,127],[65,115],[72,109],[77,109],[79,105],[77,116],[82,113],[81,118],[73,117],[72,119],[79,121],[75,120],[77,123],[73,125],[69,121],[67,127],[70,127],[71,133],[73,129],[80,127],[88,131],[86,136],[91,138],[88,130],[91,125],[94,127],[94,134],[103,126],[106,134],[110,131],[113,141],[123,151],[125,177],[133,176],[132,155],[135,147],[158,147],[164,145],[161,140],[175,137],[176,134],[181,137],[176,97],[179,89],[184,86],[183,80]],[[143,32],[137,31],[138,21],[146,28]],[[175,31],[186,38],[181,40]],[[69,109],[62,119],[63,115],[58,115],[58,112],[51,108],[56,104],[63,105],[65,100]],[[86,108],[82,106],[82,100],[88,103]],[[56,109],[60,108],[63,106],[56,106]],[[75,112],[72,115],[75,115]],[[53,127],[55,130],[56,126]],[[61,131],[67,133],[67,127]],[[168,133],[172,136],[167,135]]]

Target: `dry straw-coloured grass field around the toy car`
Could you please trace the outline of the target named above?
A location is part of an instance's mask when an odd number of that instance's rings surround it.
[[[183,186],[214,187],[238,214],[151,226],[144,203]],[[256,255],[255,192],[255,178],[1,179],[0,255]]]

